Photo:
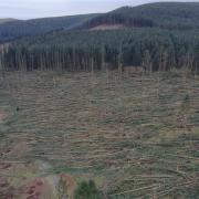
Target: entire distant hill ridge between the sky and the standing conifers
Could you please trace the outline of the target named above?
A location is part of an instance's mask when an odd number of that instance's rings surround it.
[[[158,2],[138,7],[122,7],[101,14],[11,21],[0,24],[0,42],[57,30],[122,28],[199,29],[199,2]]]

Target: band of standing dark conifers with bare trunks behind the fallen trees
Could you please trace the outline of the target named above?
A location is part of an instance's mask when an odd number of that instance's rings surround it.
[[[104,67],[199,69],[199,32],[134,29],[57,32],[13,42],[4,70],[92,71]]]

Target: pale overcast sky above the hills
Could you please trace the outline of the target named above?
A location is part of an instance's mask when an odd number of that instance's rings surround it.
[[[137,6],[155,1],[165,0],[0,0],[0,18],[31,19],[107,12],[122,6]]]

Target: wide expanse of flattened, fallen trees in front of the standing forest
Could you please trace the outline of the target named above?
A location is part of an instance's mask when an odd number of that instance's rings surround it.
[[[199,198],[199,76],[12,72],[0,78],[0,198]]]

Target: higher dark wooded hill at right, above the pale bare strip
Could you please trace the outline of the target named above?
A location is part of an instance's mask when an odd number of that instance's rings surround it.
[[[82,28],[87,29],[102,24],[195,29],[199,28],[199,2],[159,2],[123,7],[91,19]]]

